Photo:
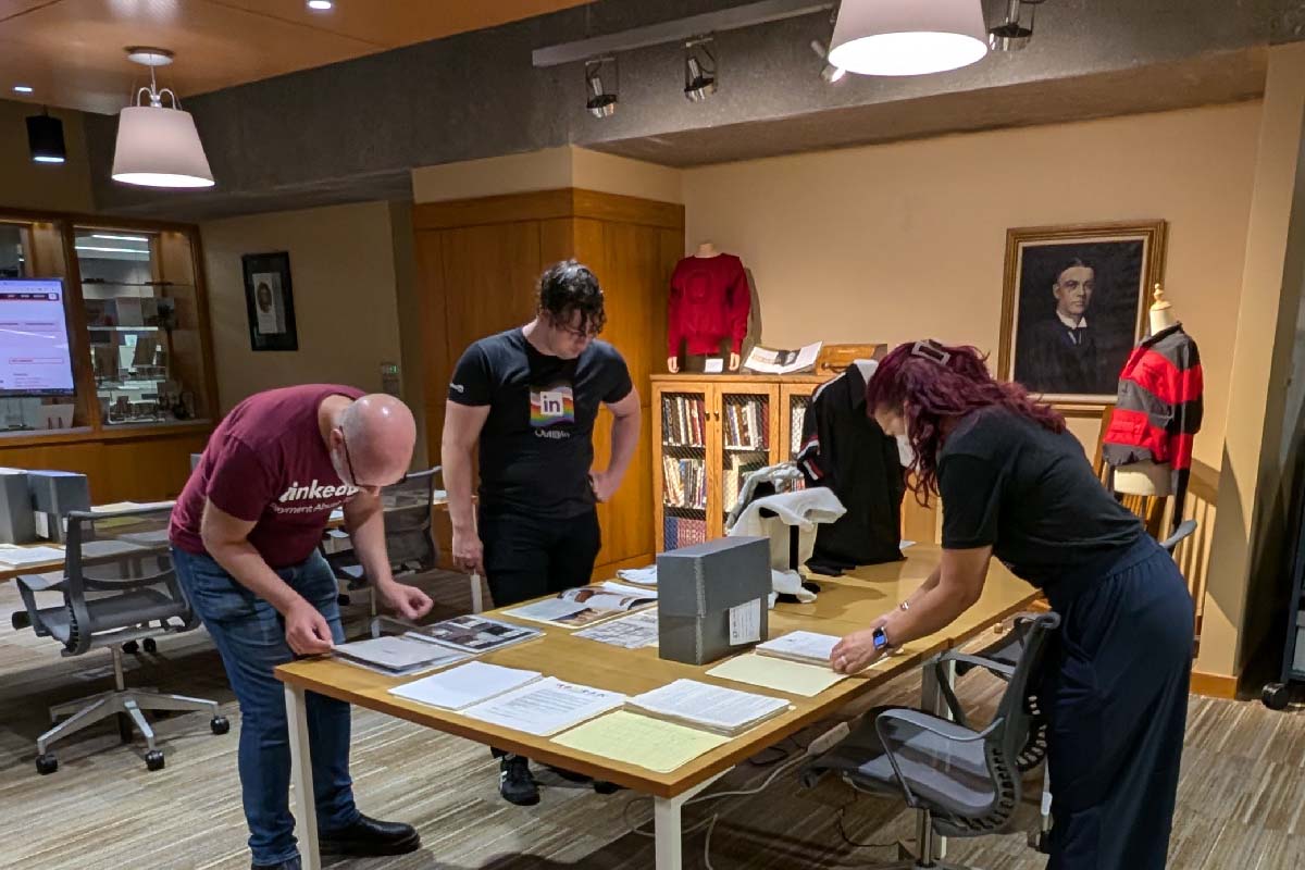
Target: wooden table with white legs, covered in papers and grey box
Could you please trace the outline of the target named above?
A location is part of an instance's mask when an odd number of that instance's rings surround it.
[[[844,635],[865,627],[873,618],[895,608],[911,595],[937,565],[937,547],[914,547],[907,560],[857,570],[844,578],[817,578],[822,591],[812,604],[778,605],[770,613],[770,637],[787,631],[808,630]],[[482,656],[484,661],[509,668],[542,670],[568,682],[636,695],[677,678],[693,678],[746,691],[786,697],[792,703],[787,713],[771,719],[671,773],[613,762],[535,737],[467,719],[389,694],[389,689],[410,678],[392,678],[330,659],[294,661],[277,668],[286,686],[290,745],[294,758],[294,810],[299,824],[300,852],[304,870],[318,870],[317,822],[312,803],[312,766],[308,758],[308,719],[304,691],[316,691],[368,710],[398,716],[458,737],[496,746],[509,753],[553,764],[594,779],[617,783],[654,798],[654,824],[658,870],[677,870],[680,863],[680,809],[686,800],[705,789],[735,764],[756,755],[787,736],[825,719],[848,702],[873,691],[877,686],[920,667],[928,657],[980,634],[1007,616],[1027,608],[1036,597],[1032,587],[1011,575],[993,561],[983,596],[959,620],[945,630],[912,644],[865,676],[851,677],[816,695],[801,698],[771,689],[706,676],[706,667],[663,661],[656,651],[622,650],[594,640],[572,637],[565,629],[540,626],[545,634],[538,640]],[[500,617],[499,612],[487,616]],[[512,617],[502,617],[509,621]],[[936,708],[934,703],[928,704]]]

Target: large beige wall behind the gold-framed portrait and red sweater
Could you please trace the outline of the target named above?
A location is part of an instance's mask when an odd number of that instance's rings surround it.
[[[686,244],[743,257],[766,344],[928,335],[996,356],[1007,228],[1164,218],[1165,286],[1206,364],[1195,451],[1218,468],[1259,113],[1251,102],[688,170]]]

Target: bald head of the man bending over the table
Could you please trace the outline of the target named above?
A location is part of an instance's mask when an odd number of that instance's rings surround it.
[[[343,471],[354,477],[350,483],[363,489],[388,487],[398,483],[412,462],[416,421],[393,395],[373,393],[341,410],[330,440],[333,447],[338,440],[341,453],[347,454]]]

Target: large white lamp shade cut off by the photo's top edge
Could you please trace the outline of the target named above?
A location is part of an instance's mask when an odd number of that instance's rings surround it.
[[[829,63],[863,76],[923,76],[987,53],[980,0],[843,0]]]

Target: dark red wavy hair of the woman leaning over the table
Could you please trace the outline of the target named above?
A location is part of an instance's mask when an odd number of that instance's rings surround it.
[[[994,380],[987,363],[974,347],[911,342],[885,356],[865,385],[868,413],[887,408],[906,417],[915,451],[908,485],[921,505],[938,493],[938,450],[947,420],[1000,406],[1052,432],[1065,430],[1065,417],[1035,402],[1019,383]]]

